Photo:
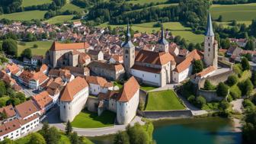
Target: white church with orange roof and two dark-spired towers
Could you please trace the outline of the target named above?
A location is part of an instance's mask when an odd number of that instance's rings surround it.
[[[127,25],[126,42],[123,44],[123,66],[126,73],[139,78],[147,85],[163,87],[170,83],[171,70],[175,68],[176,63],[168,52],[168,41],[165,40],[163,27],[162,37],[158,40],[158,52],[135,51],[129,29]]]

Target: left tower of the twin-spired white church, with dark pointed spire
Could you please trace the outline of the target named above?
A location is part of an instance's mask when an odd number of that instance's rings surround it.
[[[131,41],[130,27],[127,24],[126,41],[123,43],[123,66],[126,70],[126,74],[130,75],[130,68],[133,67],[135,62],[135,46]]]

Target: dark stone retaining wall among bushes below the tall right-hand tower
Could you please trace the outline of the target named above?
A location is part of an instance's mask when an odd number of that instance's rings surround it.
[[[216,91],[206,91],[203,89],[198,90],[198,95],[203,96],[207,102],[222,101],[224,98],[218,97]]]

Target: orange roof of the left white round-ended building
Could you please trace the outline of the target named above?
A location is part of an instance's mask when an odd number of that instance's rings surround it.
[[[86,87],[88,87],[88,83],[85,81],[85,78],[81,78],[79,76],[76,77],[72,80],[72,82],[69,82],[66,85],[66,88],[62,92],[60,101],[72,101],[75,94],[82,91],[82,89]]]

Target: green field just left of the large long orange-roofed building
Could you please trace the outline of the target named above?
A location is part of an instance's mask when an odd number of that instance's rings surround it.
[[[37,48],[33,48],[33,45],[37,44]],[[26,48],[31,48],[33,55],[43,55],[45,56],[45,53],[47,50],[50,49],[50,46],[52,46],[53,42],[51,41],[34,41],[34,42],[27,42],[26,45],[21,45],[21,43],[18,43],[18,56],[21,55],[21,52]]]

